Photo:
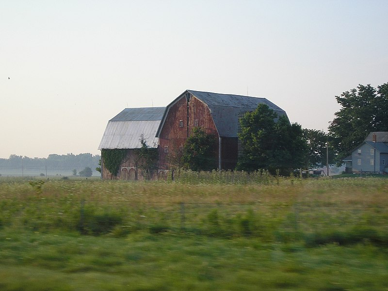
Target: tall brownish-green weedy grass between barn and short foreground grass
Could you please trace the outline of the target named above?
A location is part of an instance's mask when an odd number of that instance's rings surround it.
[[[215,181],[220,174],[208,175]],[[306,245],[388,242],[385,179],[0,183],[1,227],[113,236],[183,231]]]

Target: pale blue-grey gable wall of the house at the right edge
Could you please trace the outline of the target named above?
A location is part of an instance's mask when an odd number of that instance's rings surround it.
[[[357,147],[352,152],[353,172],[379,171],[380,162],[378,159],[378,152],[376,151],[376,156],[374,156],[373,153],[371,154],[371,149],[373,149],[372,146],[369,146],[368,144],[363,144]],[[361,152],[359,152],[359,150]],[[371,164],[371,160],[376,164]]]

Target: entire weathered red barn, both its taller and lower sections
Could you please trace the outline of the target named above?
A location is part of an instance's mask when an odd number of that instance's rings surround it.
[[[264,103],[278,115],[286,112],[266,98],[186,90],[167,107],[127,108],[108,122],[99,149],[128,149],[116,178],[139,179],[136,151],[141,136],[159,150],[160,173],[169,170],[169,155],[182,148],[192,130],[201,127],[216,138],[214,165],[234,169],[239,156],[239,118]],[[103,166],[101,177],[114,178]]]

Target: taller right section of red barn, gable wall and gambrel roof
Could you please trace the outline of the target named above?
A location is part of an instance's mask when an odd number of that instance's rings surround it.
[[[256,110],[260,103],[267,104],[278,115],[286,115],[266,98],[186,90],[166,107],[157,131],[159,167],[168,169],[168,154],[184,145],[194,127],[201,127],[218,141],[218,168],[234,169],[239,152],[239,117]]]

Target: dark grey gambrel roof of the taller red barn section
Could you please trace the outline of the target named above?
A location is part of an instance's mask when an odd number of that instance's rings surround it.
[[[266,98],[186,90],[167,106],[157,136],[159,136],[162,130],[169,108],[180,98],[185,97],[186,93],[190,93],[208,106],[218,134],[221,137],[237,137],[241,114],[256,110],[260,103],[267,104],[278,115],[287,115],[283,109]]]

